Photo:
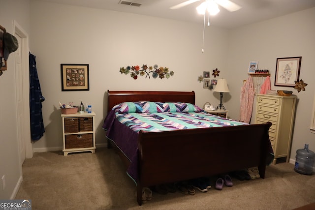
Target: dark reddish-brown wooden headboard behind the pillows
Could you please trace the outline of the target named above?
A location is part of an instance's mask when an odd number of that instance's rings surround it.
[[[181,91],[111,91],[107,90],[107,111],[122,102],[186,102],[195,104],[195,92]]]

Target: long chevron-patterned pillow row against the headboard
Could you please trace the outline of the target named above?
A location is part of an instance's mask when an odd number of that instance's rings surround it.
[[[202,111],[196,105],[190,103],[173,103],[173,102],[123,102],[115,107],[113,110],[118,113],[155,113],[155,112],[200,112]]]

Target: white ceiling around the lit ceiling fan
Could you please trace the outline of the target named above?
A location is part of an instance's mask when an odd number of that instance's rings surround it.
[[[172,10],[169,7],[186,0],[126,0],[141,3],[140,7],[119,4],[120,0],[41,0],[47,2],[108,9],[149,15],[180,21],[203,23],[203,15],[196,12],[196,7],[203,1],[191,3],[180,9]],[[235,12],[220,8],[216,16],[210,16],[210,24],[217,27],[232,29],[239,26],[268,20],[292,12],[315,7],[315,0],[231,0],[242,6]]]

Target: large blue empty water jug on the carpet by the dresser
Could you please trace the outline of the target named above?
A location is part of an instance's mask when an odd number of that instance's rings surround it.
[[[294,171],[300,174],[312,175],[315,153],[309,150],[309,145],[305,144],[304,149],[296,150]]]

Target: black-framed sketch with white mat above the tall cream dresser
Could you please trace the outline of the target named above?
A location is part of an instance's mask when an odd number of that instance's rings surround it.
[[[302,57],[278,58],[275,86],[294,87],[299,81]]]

